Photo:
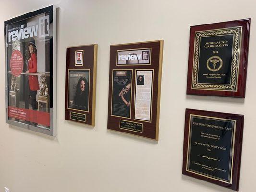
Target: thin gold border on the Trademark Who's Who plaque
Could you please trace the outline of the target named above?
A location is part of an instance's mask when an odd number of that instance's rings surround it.
[[[214,177],[210,177],[210,176],[207,176],[205,174],[200,174],[200,173],[197,173],[195,171],[192,171],[192,170],[188,170],[188,156],[189,156],[189,151],[190,151],[190,128],[191,128],[191,116],[195,116],[195,117],[204,117],[204,118],[208,118],[208,119],[211,119],[211,120],[228,120],[228,121],[233,121],[234,122],[234,126],[233,126],[233,141],[232,141],[232,161],[231,161],[231,171],[230,171],[230,182],[227,182],[225,180],[220,180],[220,179],[216,179]],[[232,176],[233,176],[233,161],[234,161],[234,147],[235,147],[235,133],[236,133],[236,120],[232,120],[232,119],[224,119],[224,118],[217,118],[217,117],[211,117],[211,116],[203,116],[203,115],[195,115],[195,114],[189,114],[189,128],[188,128],[188,147],[187,147],[187,160],[186,160],[186,171],[187,172],[191,172],[191,173],[194,173],[196,175],[200,175],[200,176],[203,176],[203,177],[207,177],[207,178],[210,178],[212,180],[218,180],[218,181],[221,181],[221,182],[224,182],[224,183],[228,183],[228,184],[232,184]]]

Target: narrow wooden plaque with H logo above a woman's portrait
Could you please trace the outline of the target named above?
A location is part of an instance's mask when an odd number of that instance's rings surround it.
[[[97,44],[67,48],[65,120],[94,126]]]

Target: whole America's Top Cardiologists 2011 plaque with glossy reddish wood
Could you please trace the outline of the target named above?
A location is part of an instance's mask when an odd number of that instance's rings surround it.
[[[190,27],[187,94],[245,98],[250,19]]]

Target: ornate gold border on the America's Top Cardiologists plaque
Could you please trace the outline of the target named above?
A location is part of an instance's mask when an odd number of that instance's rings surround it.
[[[232,33],[231,33],[232,32]],[[199,67],[199,39],[201,36],[207,35],[223,35],[223,34],[235,34],[234,36],[234,46],[232,51],[232,84],[231,85],[222,85],[222,84],[197,84],[197,70]],[[241,49],[241,38],[242,35],[242,26],[221,28],[221,29],[211,29],[205,31],[195,31],[194,37],[194,53],[193,53],[193,69],[192,69],[192,81],[191,81],[191,89],[198,90],[211,90],[211,91],[232,91],[237,92],[237,84],[238,84],[238,73],[239,73],[239,65],[240,65],[240,49]]]

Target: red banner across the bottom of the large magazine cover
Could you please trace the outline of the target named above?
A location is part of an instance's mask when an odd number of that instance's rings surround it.
[[[46,112],[8,106],[8,117],[50,126],[50,114]]]

